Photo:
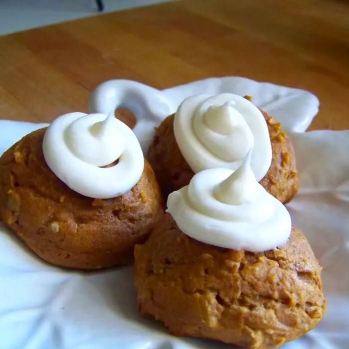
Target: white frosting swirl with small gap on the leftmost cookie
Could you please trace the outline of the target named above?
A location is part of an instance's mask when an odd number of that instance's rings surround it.
[[[113,114],[64,114],[47,128],[42,149],[51,171],[88,197],[122,195],[143,173],[144,157],[135,134]]]

